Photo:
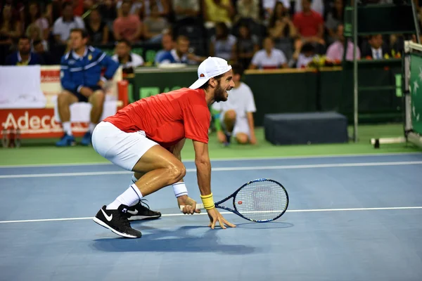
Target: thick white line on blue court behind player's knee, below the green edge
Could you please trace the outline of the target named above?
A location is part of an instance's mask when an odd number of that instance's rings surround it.
[[[257,171],[257,170],[283,170],[283,169],[311,169],[311,168],[338,168],[351,166],[401,166],[418,165],[422,161],[407,162],[369,162],[369,163],[333,163],[333,164],[309,164],[309,165],[282,165],[282,166],[236,166],[212,168],[212,171]],[[196,172],[196,169],[186,169],[186,172]],[[132,171],[89,171],[77,173],[56,173],[56,174],[20,174],[20,175],[2,175],[0,178],[47,178],[57,176],[103,176],[132,174]]]

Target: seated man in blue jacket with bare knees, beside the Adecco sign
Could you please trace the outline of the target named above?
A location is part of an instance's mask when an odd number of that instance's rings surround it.
[[[58,95],[57,100],[58,114],[65,134],[56,145],[75,145],[70,127],[70,105],[77,102],[89,102],[92,105],[89,131],[81,142],[82,145],[89,145],[91,134],[103,114],[106,98],[104,83],[113,78],[119,64],[98,48],[87,46],[88,34],[85,30],[71,30],[69,39],[72,51],[61,58],[60,77],[63,92]],[[103,67],[106,67],[106,72],[104,77],[101,77]]]

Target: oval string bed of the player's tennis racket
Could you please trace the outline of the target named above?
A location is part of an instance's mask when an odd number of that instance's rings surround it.
[[[269,221],[287,208],[288,195],[277,183],[257,181],[239,190],[234,203],[243,216],[253,221]]]

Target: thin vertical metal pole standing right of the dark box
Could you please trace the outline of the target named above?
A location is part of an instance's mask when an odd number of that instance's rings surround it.
[[[358,135],[357,135],[357,123],[358,123],[358,83],[357,83],[357,58],[356,58],[356,46],[357,46],[357,0],[354,0],[354,8],[353,8],[353,119],[354,119],[354,126],[353,126],[353,141],[357,143]]]

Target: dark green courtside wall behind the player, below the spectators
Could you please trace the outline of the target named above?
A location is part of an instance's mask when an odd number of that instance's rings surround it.
[[[400,67],[362,67],[359,71],[361,86],[397,84]],[[197,67],[158,68],[139,67],[132,84],[129,101],[188,87],[198,78]],[[398,79],[399,80],[399,79]],[[336,111],[352,122],[352,70],[248,70],[243,81],[250,86],[255,98],[256,126],[262,126],[268,113]],[[422,86],[422,85],[421,85]],[[421,95],[422,96],[422,95]],[[362,122],[400,121],[402,97],[397,89],[359,92],[359,119]]]

